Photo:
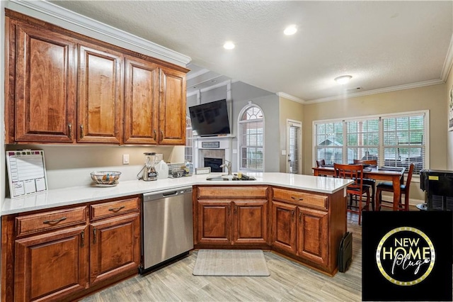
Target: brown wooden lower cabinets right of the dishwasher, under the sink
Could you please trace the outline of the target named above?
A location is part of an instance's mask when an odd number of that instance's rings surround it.
[[[265,188],[196,186],[195,248],[275,250],[324,274],[336,274],[338,246],[347,230],[343,190],[323,194]]]

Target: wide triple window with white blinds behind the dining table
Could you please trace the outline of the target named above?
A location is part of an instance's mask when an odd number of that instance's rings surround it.
[[[377,160],[379,166],[427,166],[429,111],[314,121],[314,160],[326,164]],[[406,169],[407,171],[408,169]]]

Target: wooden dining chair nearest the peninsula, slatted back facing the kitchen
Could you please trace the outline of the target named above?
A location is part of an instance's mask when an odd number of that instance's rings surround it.
[[[348,212],[357,213],[359,215],[359,225],[362,223],[362,210],[366,208],[369,211],[369,189],[370,186],[363,184],[359,179],[363,178],[363,165],[362,164],[333,164],[335,176],[338,178],[352,179],[354,182],[346,187],[346,194],[350,196],[357,196],[359,203],[358,206],[348,206]],[[365,206],[362,206],[363,195],[366,195],[367,201]]]

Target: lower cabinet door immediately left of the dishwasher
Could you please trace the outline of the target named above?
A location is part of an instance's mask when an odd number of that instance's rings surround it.
[[[90,225],[90,284],[137,272],[140,264],[139,213]]]

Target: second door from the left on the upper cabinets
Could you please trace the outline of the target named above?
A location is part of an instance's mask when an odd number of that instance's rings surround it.
[[[79,45],[77,142],[122,140],[122,55],[97,45]]]

